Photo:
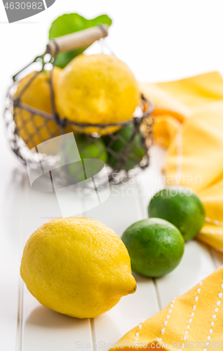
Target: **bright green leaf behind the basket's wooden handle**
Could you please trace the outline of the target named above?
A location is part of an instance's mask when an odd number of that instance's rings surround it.
[[[100,24],[110,26],[112,25],[112,20],[107,15],[100,15],[92,20],[87,20],[78,13],[67,13],[53,21],[49,31],[49,39],[61,37],[62,35],[78,32],[79,30],[95,27]],[[86,48],[88,46],[67,53],[59,53],[55,65],[64,68],[76,55],[83,53]]]

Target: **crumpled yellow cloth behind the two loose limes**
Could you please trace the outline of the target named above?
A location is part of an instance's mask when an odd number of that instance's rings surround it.
[[[167,185],[190,187],[206,222],[197,239],[223,251],[223,79],[218,72],[140,84],[154,101],[156,143],[168,147]]]

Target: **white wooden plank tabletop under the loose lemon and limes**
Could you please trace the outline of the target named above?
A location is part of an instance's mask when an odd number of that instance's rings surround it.
[[[223,263],[222,256],[207,246],[189,241],[182,262],[172,273],[160,279],[135,275],[136,293],[123,297],[112,310],[95,319],[74,319],[48,310],[23,284],[20,260],[32,232],[50,218],[61,216],[60,208],[54,193],[30,188],[26,169],[6,145],[2,145],[0,157],[1,351],[108,350],[124,333],[152,317]],[[104,204],[81,216],[100,220],[120,236],[130,224],[147,218],[149,199],[162,186],[158,180],[164,157],[163,150],[153,147],[151,166],[135,182],[116,186]]]

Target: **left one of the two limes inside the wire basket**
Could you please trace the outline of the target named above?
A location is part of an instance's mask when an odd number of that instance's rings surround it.
[[[105,150],[105,145],[102,138],[87,138],[84,134],[75,135],[76,145],[79,149],[79,154],[81,159],[100,159],[105,164],[107,163],[107,152]],[[65,147],[65,154],[61,152],[60,160],[64,164],[64,158],[66,155],[72,156],[76,154],[74,150],[73,143],[67,143]],[[85,163],[86,164],[86,163]],[[86,176],[83,171],[83,163],[81,161],[74,162],[72,164],[67,164],[67,173],[68,175],[76,180],[76,182],[81,182],[85,180]],[[97,162],[88,163],[88,176],[95,175],[101,170],[100,164]]]

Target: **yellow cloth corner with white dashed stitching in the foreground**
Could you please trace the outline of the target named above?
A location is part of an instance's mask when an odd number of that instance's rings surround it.
[[[110,351],[161,348],[202,350],[223,346],[223,267],[135,326]]]

